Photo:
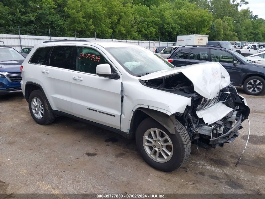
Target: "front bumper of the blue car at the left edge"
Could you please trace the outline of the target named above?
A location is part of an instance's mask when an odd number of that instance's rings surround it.
[[[7,78],[0,78],[0,95],[8,93],[21,92],[20,82],[10,82]]]

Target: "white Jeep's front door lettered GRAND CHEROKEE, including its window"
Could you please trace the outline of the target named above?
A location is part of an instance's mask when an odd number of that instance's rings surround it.
[[[102,54],[94,48],[78,47],[76,71],[70,77],[73,114],[120,129],[122,80],[121,76],[109,79],[96,75],[98,64],[111,65]]]

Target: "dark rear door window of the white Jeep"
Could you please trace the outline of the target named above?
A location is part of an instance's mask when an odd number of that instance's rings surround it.
[[[70,69],[72,46],[55,46],[50,54],[50,66]]]

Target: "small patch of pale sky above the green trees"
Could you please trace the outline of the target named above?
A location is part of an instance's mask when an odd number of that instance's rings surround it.
[[[247,5],[242,5],[238,7],[239,10],[249,8],[253,12],[253,15],[258,14],[259,18],[265,19],[265,0],[247,0]]]

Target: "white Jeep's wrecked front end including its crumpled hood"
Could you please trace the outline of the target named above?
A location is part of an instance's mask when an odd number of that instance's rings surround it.
[[[211,67],[209,67],[209,65]],[[169,74],[140,78],[148,87],[189,97],[191,105],[174,113],[188,131],[193,143],[207,148],[223,147],[234,141],[248,117],[246,99],[238,95],[227,71],[219,64],[194,64]],[[149,75],[150,76],[150,75]],[[178,102],[176,102],[178,103]]]

